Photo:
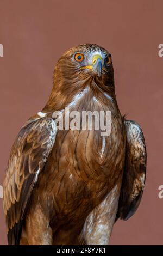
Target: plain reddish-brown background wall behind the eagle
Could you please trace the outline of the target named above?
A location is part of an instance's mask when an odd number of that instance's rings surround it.
[[[163,1],[0,0],[0,184],[14,138],[46,103],[57,59],[68,48],[93,42],[113,56],[121,113],[142,126],[148,161],[139,210],[114,226],[111,244],[162,244]],[[0,199],[0,244],[6,244]]]

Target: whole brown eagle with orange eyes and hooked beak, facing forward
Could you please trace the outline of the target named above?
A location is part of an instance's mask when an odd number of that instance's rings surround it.
[[[103,111],[105,121],[110,112],[110,135],[87,125],[59,129],[53,113],[61,118],[66,107]],[[55,65],[46,106],[11,148],[3,200],[9,245],[108,245],[115,221],[137,210],[145,174],[145,140],[118,109],[111,54],[95,44],[71,48]]]

